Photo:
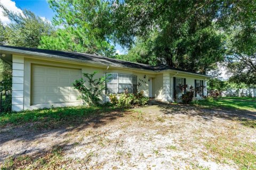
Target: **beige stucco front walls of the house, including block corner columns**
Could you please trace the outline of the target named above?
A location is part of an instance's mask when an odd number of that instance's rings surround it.
[[[78,103],[52,103],[31,105],[31,65],[45,65],[54,67],[66,67],[71,69],[79,69],[82,73],[93,73],[97,71],[95,78],[100,78],[106,73],[124,73],[137,75],[137,83],[140,83],[139,91],[143,91],[145,96],[149,96],[149,78],[152,78],[152,95],[158,100],[172,101],[173,100],[173,76],[176,73],[171,71],[153,72],[138,69],[129,69],[125,67],[113,67],[92,65],[87,63],[70,62],[66,60],[57,60],[54,58],[43,58],[37,56],[22,56],[13,55],[13,97],[12,104],[14,111],[22,109],[37,109],[43,107],[62,107],[82,105],[82,101]],[[205,78],[195,75],[176,74],[177,78],[186,78],[188,85],[194,86],[195,79],[204,80]],[[105,92],[101,96],[102,102],[108,101]]]

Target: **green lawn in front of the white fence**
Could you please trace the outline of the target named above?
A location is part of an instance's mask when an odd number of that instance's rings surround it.
[[[242,109],[247,111],[256,111],[256,98],[248,97],[221,97],[213,99],[213,101],[198,100],[193,103],[196,106],[203,106],[207,108],[230,108]]]

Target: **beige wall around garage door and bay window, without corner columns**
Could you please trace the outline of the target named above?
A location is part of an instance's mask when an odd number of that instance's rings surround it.
[[[137,82],[141,83],[141,86],[139,87],[139,91],[143,91],[145,96],[149,95],[149,84],[148,84],[148,78],[155,78],[155,74],[147,73],[147,72],[140,72],[140,71],[134,71],[129,69],[119,69],[119,68],[111,68],[109,67],[97,67],[97,66],[91,66],[91,65],[85,65],[85,64],[76,64],[76,63],[68,63],[68,62],[57,62],[57,61],[49,61],[49,60],[38,60],[34,57],[26,57],[26,56],[16,56],[16,58],[24,58],[24,83],[21,84],[24,88],[24,96],[23,100],[23,107],[19,107],[21,109],[37,109],[37,108],[43,108],[43,107],[62,107],[62,106],[76,106],[76,105],[82,105],[82,101],[79,103],[53,103],[53,104],[39,104],[39,105],[31,105],[30,103],[30,96],[31,96],[31,65],[32,64],[38,64],[38,65],[45,65],[45,66],[55,66],[55,67],[66,67],[66,68],[73,68],[73,69],[81,69],[82,73],[93,73],[94,71],[97,71],[98,73],[95,75],[94,78],[98,79],[105,75],[105,73],[125,73],[125,74],[134,74],[137,75]],[[144,78],[146,75],[146,78]],[[139,81],[139,80],[143,80]],[[86,83],[87,84],[87,83]],[[153,84],[154,86],[154,84]],[[154,94],[154,91],[153,91]],[[15,97],[15,96],[14,96]],[[15,100],[15,99],[14,99]],[[105,92],[101,96],[102,102],[108,101],[108,97],[106,97]],[[14,106],[17,107],[17,106]],[[16,108],[16,111],[19,111],[19,109]]]

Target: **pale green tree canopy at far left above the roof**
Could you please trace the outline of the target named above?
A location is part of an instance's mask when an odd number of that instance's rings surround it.
[[[42,36],[50,35],[52,24],[28,10],[14,13],[0,3],[3,14],[11,20],[10,24],[0,23],[2,45],[37,48]]]

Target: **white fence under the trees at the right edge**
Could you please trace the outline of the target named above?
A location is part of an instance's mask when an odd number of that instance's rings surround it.
[[[222,91],[221,95],[223,97],[256,97],[256,89],[228,89],[226,91]]]

